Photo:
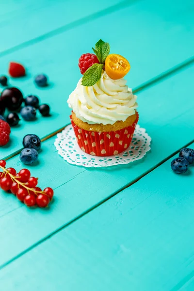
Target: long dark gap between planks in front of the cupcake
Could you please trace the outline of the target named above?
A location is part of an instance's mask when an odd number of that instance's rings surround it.
[[[194,140],[192,140],[190,143],[182,146],[181,148],[190,146],[193,143],[194,143]],[[118,191],[114,192],[110,196],[108,196],[105,199],[101,200],[100,202],[98,202],[97,204],[95,204],[94,206],[92,206],[91,208],[89,208],[88,210],[82,212],[80,215],[78,215],[74,219],[70,220],[68,223],[64,224],[63,226],[59,227],[58,229],[56,229],[55,231],[53,231],[52,233],[50,233],[45,238],[43,238],[43,239],[39,240],[38,242],[32,244],[29,248],[27,248],[25,251],[19,253],[16,257],[14,257],[14,258],[8,260],[7,262],[5,262],[4,264],[0,265],[0,270],[3,269],[4,267],[6,267],[7,265],[9,265],[10,263],[12,263],[13,261],[15,261],[16,259],[19,259],[20,257],[22,257],[23,255],[25,255],[26,253],[30,252],[32,249],[34,249],[35,247],[37,247],[39,244],[41,244],[41,243],[49,240],[51,237],[53,237],[54,235],[56,235],[57,233],[59,233],[60,231],[62,231],[63,229],[65,229],[66,227],[70,226],[71,224],[73,224],[74,222],[76,222],[77,220],[79,220],[81,217],[85,216],[86,214],[88,214],[92,210],[96,209],[97,207],[99,207],[100,205],[102,205],[103,203],[105,203],[106,201],[108,201],[109,199],[111,199],[113,196],[115,196],[118,193],[122,192],[123,190],[129,188],[131,185],[133,185],[136,182],[138,182],[141,178],[144,178],[146,175],[148,175],[149,173],[151,173],[153,170],[155,170],[156,168],[158,168],[159,166],[161,166],[164,162],[167,162],[174,155],[178,154],[178,152],[181,150],[181,148],[179,148],[178,150],[176,150],[174,153],[172,153],[171,155],[169,155],[167,158],[163,159],[161,162],[157,163],[155,166],[151,167],[145,173],[143,173],[139,177],[135,178],[134,180],[132,180],[130,183],[128,183],[124,187],[120,188]]]

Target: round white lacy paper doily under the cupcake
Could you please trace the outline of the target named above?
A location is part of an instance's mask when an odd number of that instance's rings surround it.
[[[142,159],[150,150],[150,142],[151,138],[146,133],[146,129],[137,125],[130,146],[126,151],[110,157],[91,156],[84,153],[78,146],[74,130],[70,124],[57,134],[54,145],[59,155],[70,164],[84,167],[109,167]]]

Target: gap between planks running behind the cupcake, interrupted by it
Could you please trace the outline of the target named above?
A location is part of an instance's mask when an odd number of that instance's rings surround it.
[[[186,61],[176,65],[175,67],[163,72],[162,74],[156,76],[155,78],[150,79],[149,81],[143,83],[142,85],[134,88],[133,93],[137,93],[140,91],[145,90],[146,88],[152,86],[153,84],[163,81],[164,79],[170,77],[173,74],[176,74],[178,71],[186,68],[187,66],[193,65],[194,64],[194,57],[187,59]],[[68,125],[68,124],[67,124]],[[48,140],[49,138],[53,137],[54,135],[56,135],[57,133],[61,132],[62,130],[65,129],[65,127],[67,126],[65,125],[64,127],[57,129],[56,131],[52,132],[51,134],[45,136],[44,138],[41,139],[42,142]],[[13,157],[15,157],[16,155],[18,155],[21,152],[22,148],[20,148],[19,150],[17,150],[15,153],[13,153],[12,155],[8,156],[7,158],[4,158],[4,160],[9,160]],[[2,158],[3,159],[3,158]]]

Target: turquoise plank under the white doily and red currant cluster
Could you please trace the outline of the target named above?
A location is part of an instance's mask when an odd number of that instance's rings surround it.
[[[54,138],[44,142],[39,163],[28,168],[39,177],[43,189],[55,189],[55,200],[49,209],[32,210],[13,195],[0,192],[0,265],[96,207],[189,143],[194,138],[193,72],[194,66],[139,94],[139,124],[152,137],[151,151],[139,162],[86,170],[65,162],[57,154]],[[18,156],[7,165],[17,170],[23,167]]]

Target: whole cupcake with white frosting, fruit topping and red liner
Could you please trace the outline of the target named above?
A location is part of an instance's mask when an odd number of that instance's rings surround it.
[[[108,43],[99,40],[95,54],[83,54],[83,77],[70,94],[71,123],[81,150],[93,156],[112,156],[126,150],[138,122],[136,96],[124,76],[129,62],[109,54]]]

